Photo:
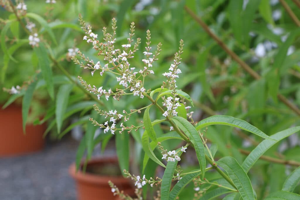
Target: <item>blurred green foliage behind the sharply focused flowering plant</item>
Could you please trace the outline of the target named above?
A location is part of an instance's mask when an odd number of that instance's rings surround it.
[[[126,42],[129,25],[133,21],[136,24],[135,37],[142,39],[140,49],[143,50],[146,46],[147,29],[151,30],[154,49],[157,43],[163,44],[159,60],[153,66],[156,76],[148,80],[146,88],[155,89],[161,85],[164,80],[161,74],[172,63],[179,40],[183,39],[184,53],[180,65],[183,74],[178,86],[189,93],[194,101],[195,107],[192,108],[194,120],[199,121],[214,114],[231,115],[246,120],[267,135],[272,135],[288,127],[300,125],[299,113],[297,114],[295,109],[290,109],[286,101],[283,103],[277,96],[280,93],[295,107],[300,106],[300,51],[298,48],[300,24],[297,19],[292,19],[290,16],[291,13],[294,13],[296,18],[300,16],[300,7],[297,6],[297,2],[297,0],[286,0],[283,3],[279,0],[66,0],[57,1],[56,4],[46,4],[44,1],[26,1],[26,4],[27,13],[36,13],[48,22],[57,44],[45,31],[45,27],[36,19],[32,19],[37,25],[41,40],[48,45],[49,54],[70,73],[74,80],[80,75],[88,84],[97,87],[117,87],[114,76],[105,74],[101,77],[95,74],[91,77],[89,71],[74,65],[67,56],[69,48],[77,47],[89,58],[99,59],[94,49],[82,40],[84,32],[80,30],[79,13],[92,26],[93,32],[99,35],[100,41],[102,27],[106,26],[110,29],[111,19],[115,17],[118,26],[117,43],[120,45]],[[288,11],[283,6],[286,4],[290,8]],[[195,17],[187,12],[187,9],[195,13],[196,17],[201,19],[211,33],[222,42],[217,43],[207,30],[199,25]],[[1,19],[13,19],[13,14],[5,11],[4,8],[0,10]],[[28,44],[28,34],[22,30],[18,22],[10,26],[5,33],[4,23],[1,22],[3,51],[0,56],[1,88],[11,88],[12,85],[22,85],[23,82],[33,78],[39,69],[38,56]],[[4,43],[6,47],[3,47]],[[232,58],[232,54],[224,51],[222,48],[224,46],[235,52],[241,62],[260,77],[255,78],[244,70],[241,63]],[[7,58],[4,51],[9,51],[16,61]],[[141,52],[136,54],[131,63],[132,66],[143,67]],[[55,65],[55,62],[50,61],[50,63],[56,96],[61,85],[72,84],[72,82]],[[4,104],[8,98],[7,93],[0,92],[1,104]],[[91,140],[90,144],[81,145],[82,150],[88,149],[88,157],[91,157],[92,149],[99,141],[103,141],[102,148],[104,149],[112,135],[100,134],[96,137],[96,128],[88,121],[90,116],[97,116],[91,111],[95,101],[84,94],[80,88],[72,87],[70,97],[67,99],[67,115],[61,119],[61,133],[55,125],[57,120],[55,107],[58,105],[55,99],[57,96],[54,99],[49,98],[45,84],[40,82],[31,105],[33,108],[37,107],[36,112],[44,116],[44,119],[39,121],[32,118],[31,122],[38,124],[46,121],[49,127],[47,132],[51,133],[52,138],[61,138],[74,125],[83,124],[86,130],[85,136],[95,137],[95,140]],[[17,99],[17,101],[21,100]],[[104,101],[107,110],[122,109],[125,106],[135,109],[146,105],[146,100],[137,100],[132,97],[120,102],[106,102],[105,99]],[[161,114],[157,113],[157,115]],[[70,124],[70,119],[73,117],[78,119],[76,124]],[[140,115],[136,118],[132,117],[131,121],[142,119]],[[101,118],[98,120],[99,123],[103,121]],[[131,121],[128,124],[131,124]],[[164,129],[156,127],[156,133],[162,134]],[[138,151],[141,150],[140,134],[140,132],[132,133],[133,138],[138,142],[130,154],[137,154],[137,157],[142,158],[143,151]],[[245,155],[262,140],[256,136],[250,136],[247,132],[224,126],[209,127],[205,136],[209,142],[217,144],[216,157],[231,155],[239,163],[242,163]],[[268,158],[299,161],[300,140],[298,136],[296,133],[274,145],[265,155]],[[131,140],[129,136],[122,135],[122,137],[128,138],[116,139],[117,145],[121,145],[120,141]],[[178,145],[174,143],[173,147],[168,147],[168,144],[164,144],[166,148],[174,148]],[[125,145],[124,148],[129,151],[129,146]],[[119,156],[121,153],[119,152]],[[83,154],[84,151],[79,151],[79,160]],[[123,156],[124,159],[128,158],[129,153]],[[139,160],[137,162],[143,162],[143,159]],[[193,155],[184,157],[184,160],[191,164],[182,166],[184,171],[193,169],[191,167],[195,163]],[[280,190],[287,174],[294,168],[295,166],[292,165],[259,160],[249,172],[258,199],[262,199],[272,191]],[[210,179],[219,178],[216,174],[207,176]],[[193,190],[193,185],[182,193],[182,197],[192,198],[191,190]],[[300,187],[297,186],[294,192],[299,193]]]

